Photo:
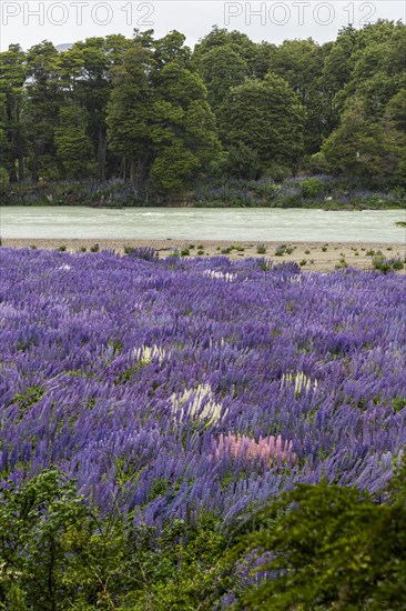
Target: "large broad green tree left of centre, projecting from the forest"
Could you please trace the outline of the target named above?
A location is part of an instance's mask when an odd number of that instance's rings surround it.
[[[136,36],[115,70],[109,104],[109,143],[140,191],[149,179],[162,193],[180,191],[219,147],[201,78],[189,68],[184,37]]]

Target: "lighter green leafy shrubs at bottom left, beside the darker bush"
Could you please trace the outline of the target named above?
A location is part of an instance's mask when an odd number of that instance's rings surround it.
[[[212,515],[161,532],[100,515],[49,469],[0,489],[0,609],[212,609],[232,584]]]

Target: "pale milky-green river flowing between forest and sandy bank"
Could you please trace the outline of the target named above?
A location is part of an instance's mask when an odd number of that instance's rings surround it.
[[[0,210],[4,239],[185,239],[405,243],[402,210],[12,207]]]

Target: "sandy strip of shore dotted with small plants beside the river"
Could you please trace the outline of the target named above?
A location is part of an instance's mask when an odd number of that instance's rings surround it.
[[[94,240],[3,240],[4,247],[58,249],[65,247],[67,251],[77,252],[81,249],[89,251],[95,243]],[[168,257],[175,250],[181,252],[187,249],[190,257],[223,256],[230,259],[244,259],[248,257],[265,257],[275,262],[296,261],[306,271],[328,271],[337,266],[347,264],[363,270],[372,269],[372,252],[382,252],[387,258],[406,257],[406,244],[388,243],[361,243],[361,242],[264,242],[265,252],[258,252],[257,242],[230,242],[210,241],[191,242],[185,240],[99,240],[100,249],[112,249],[124,253],[124,249],[136,247],[151,247],[160,257]],[[276,249],[285,247],[282,256],[276,256]],[[231,250],[230,250],[231,249]],[[369,254],[368,254],[369,253]],[[403,270],[405,273],[405,270]]]

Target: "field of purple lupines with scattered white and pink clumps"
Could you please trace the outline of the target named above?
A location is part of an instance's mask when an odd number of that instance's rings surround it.
[[[379,495],[406,444],[406,281],[1,249],[0,473],[227,528],[297,482]]]

